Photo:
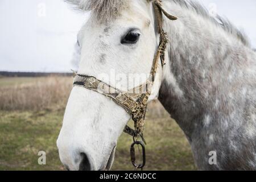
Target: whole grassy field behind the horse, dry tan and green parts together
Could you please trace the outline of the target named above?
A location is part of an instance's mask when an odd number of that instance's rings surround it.
[[[0,78],[0,170],[64,170],[56,147],[71,77]],[[145,170],[195,170],[191,147],[159,102],[149,106]],[[113,170],[131,170],[132,139],[118,140]],[[46,151],[46,165],[38,152]]]

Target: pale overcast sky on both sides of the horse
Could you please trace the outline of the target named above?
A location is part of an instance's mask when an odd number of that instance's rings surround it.
[[[255,0],[200,1],[242,28],[256,47]],[[70,72],[87,16],[63,0],[0,0],[0,71]]]

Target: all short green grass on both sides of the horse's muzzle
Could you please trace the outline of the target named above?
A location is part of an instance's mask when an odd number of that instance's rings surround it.
[[[0,170],[63,170],[56,147],[64,111],[0,111]],[[145,170],[194,170],[192,154],[183,132],[167,114],[146,119]],[[119,138],[113,170],[133,169],[127,134]],[[47,164],[38,164],[46,151]]]

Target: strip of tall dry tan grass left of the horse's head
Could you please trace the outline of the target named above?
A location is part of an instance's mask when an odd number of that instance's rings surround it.
[[[5,82],[9,78],[1,78]],[[23,78],[24,79],[24,78]],[[65,107],[72,88],[71,77],[42,77],[23,81],[12,78],[0,86],[0,110],[43,110]]]

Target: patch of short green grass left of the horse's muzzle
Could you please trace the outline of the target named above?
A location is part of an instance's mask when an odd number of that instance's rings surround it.
[[[63,111],[0,112],[1,170],[63,169],[56,148]],[[46,151],[47,165],[38,164]]]

